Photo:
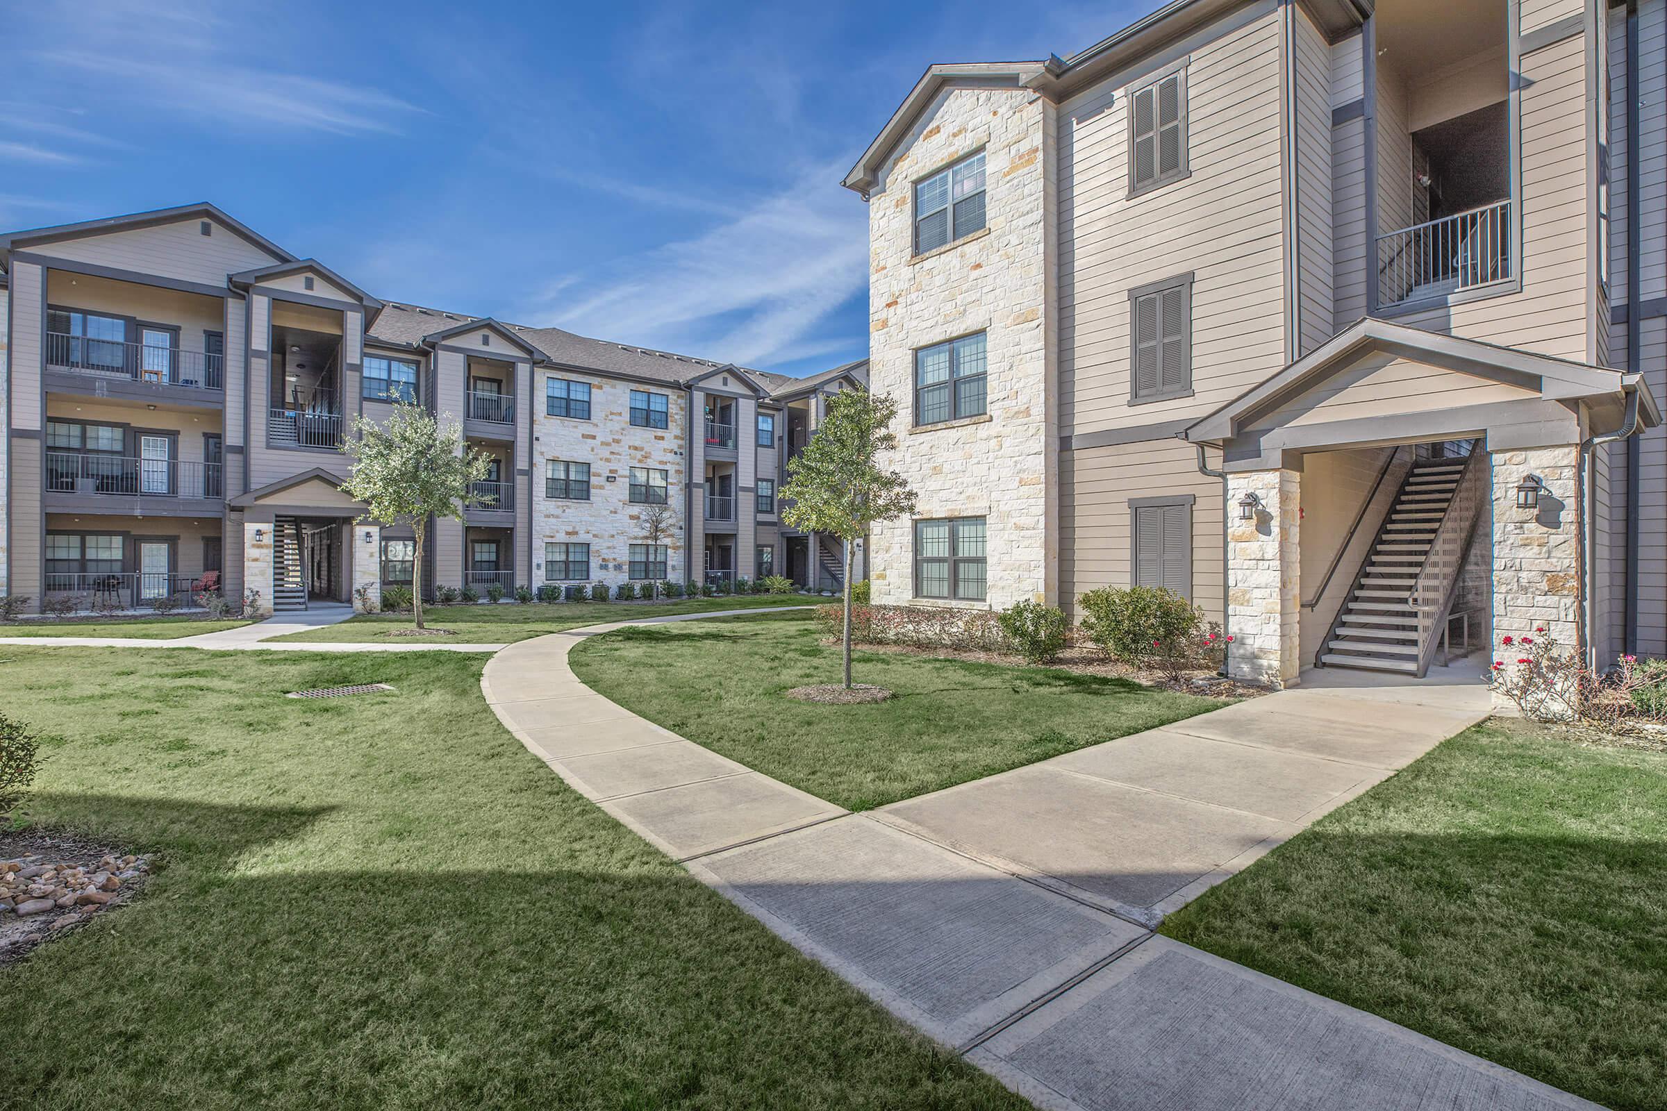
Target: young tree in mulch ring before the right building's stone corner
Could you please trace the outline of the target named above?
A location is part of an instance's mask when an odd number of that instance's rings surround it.
[[[787,463],[782,498],[792,505],[782,520],[807,533],[832,533],[845,545],[845,686],[850,686],[850,571],[852,550],[879,521],[915,511],[915,491],[875,455],[897,448],[892,420],[897,401],[867,390],[844,390],[828,398],[827,416],[810,443]]]

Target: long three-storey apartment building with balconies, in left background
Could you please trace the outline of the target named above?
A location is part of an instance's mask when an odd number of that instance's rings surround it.
[[[0,267],[0,593],[33,610],[410,583],[415,535],[340,490],[342,438],[397,400],[493,460],[425,525],[430,586],[839,583],[777,491],[862,361],[793,380],[383,301],[213,205],[5,235]]]

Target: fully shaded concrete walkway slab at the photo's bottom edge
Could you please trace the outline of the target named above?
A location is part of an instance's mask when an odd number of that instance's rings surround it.
[[[1167,938],[969,1058],[1050,1111],[1597,1106]]]

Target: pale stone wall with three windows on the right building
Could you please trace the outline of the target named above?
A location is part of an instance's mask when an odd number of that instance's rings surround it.
[[[909,476],[919,520],[985,518],[989,593],[962,603],[980,608],[1059,598],[1054,118],[1029,90],[952,88],[869,197],[869,381],[899,406],[882,463]],[[985,230],[915,258],[914,183],[979,150]],[[987,413],[914,428],[914,351],[977,331]],[[912,601],[912,521],[875,525],[869,545],[874,601]]]

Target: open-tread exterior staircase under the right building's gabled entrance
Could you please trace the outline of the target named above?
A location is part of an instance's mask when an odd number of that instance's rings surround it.
[[[1487,505],[1485,453],[1414,463],[1332,621],[1320,666],[1422,676]]]

